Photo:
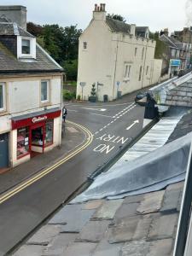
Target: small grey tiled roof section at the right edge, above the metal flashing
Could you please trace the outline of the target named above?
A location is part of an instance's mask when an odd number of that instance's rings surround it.
[[[192,107],[192,79],[166,92],[166,105]]]

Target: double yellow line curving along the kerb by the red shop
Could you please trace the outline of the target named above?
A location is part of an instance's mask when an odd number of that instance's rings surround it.
[[[20,185],[15,187],[15,189],[12,189],[8,193],[0,196],[0,204],[2,204],[3,201],[7,201],[10,197],[14,196],[15,194],[19,193],[21,190],[26,189],[26,187],[30,186],[32,183],[37,182],[40,178],[44,177],[49,172],[54,171],[55,168],[61,166],[62,164],[67,162],[67,160],[72,159],[73,156],[75,156],[76,154],[79,154],[81,151],[84,150],[84,148],[87,148],[90,145],[90,143],[93,140],[93,135],[87,128],[85,128],[82,125],[73,123],[71,121],[67,121],[67,123],[70,124],[70,125],[74,125],[76,127],[79,127],[81,130],[83,130],[85,132],[85,134],[87,135],[86,142],[83,145],[81,145],[79,148],[75,149],[72,153],[67,154],[67,156],[65,158],[63,158],[62,160],[59,160],[57,163],[55,163],[55,165],[50,166],[49,168],[45,169],[43,172],[40,172],[40,173],[38,173],[38,175],[36,175],[36,176],[32,177],[31,179],[27,180],[25,183],[21,183]]]

